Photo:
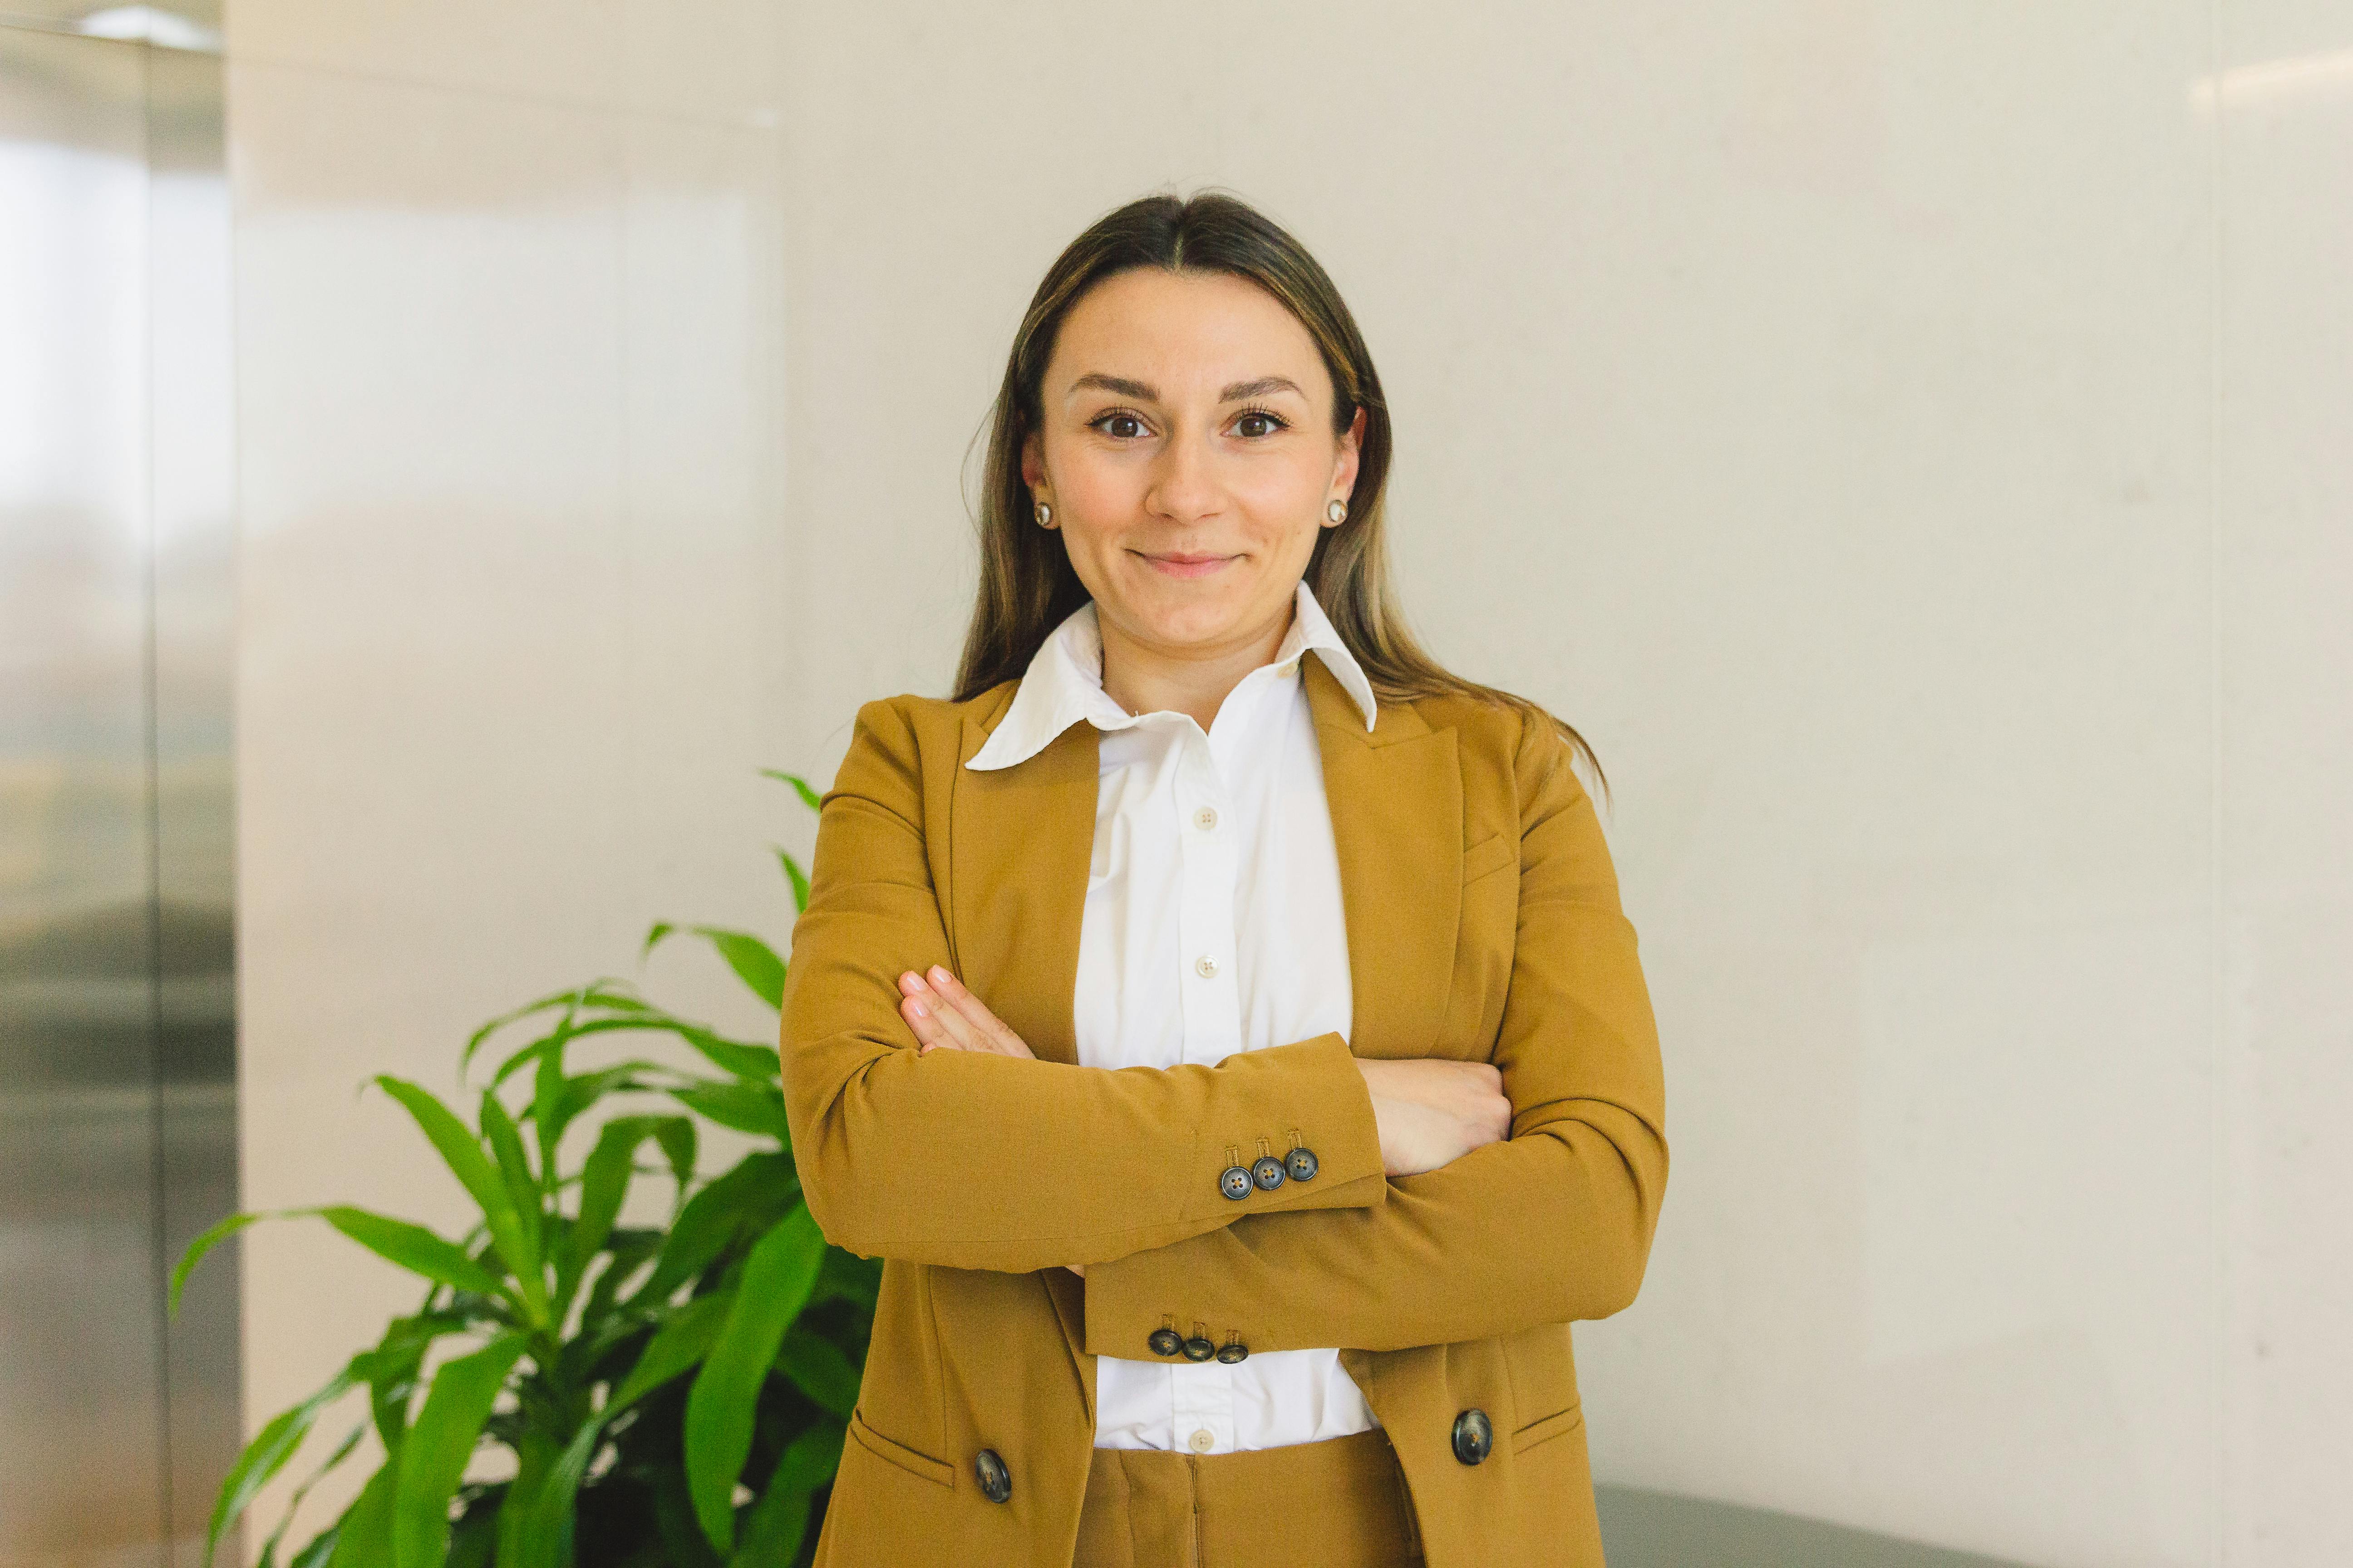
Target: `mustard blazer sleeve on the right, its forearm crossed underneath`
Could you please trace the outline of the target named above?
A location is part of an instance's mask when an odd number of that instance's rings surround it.
[[[1617,875],[1567,741],[1515,755],[1520,914],[1494,1065],[1511,1138],[1388,1204],[1249,1215],[1087,1269],[1087,1352],[1144,1356],[1174,1316],[1249,1349],[1405,1349],[1633,1302],[1666,1192],[1659,1034]]]

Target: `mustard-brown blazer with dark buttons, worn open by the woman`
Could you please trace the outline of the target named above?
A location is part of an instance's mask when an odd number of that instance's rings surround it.
[[[1151,1359],[1162,1326],[1252,1352],[1339,1347],[1433,1568],[1602,1561],[1569,1321],[1633,1300],[1666,1140],[1600,825],[1553,726],[1442,696],[1381,703],[1367,733],[1320,656],[1301,670],[1353,1030],[1217,1067],[1075,1065],[1099,731],[974,771],[1019,682],[859,710],[781,1025],[809,1213],[885,1258],[821,1568],[1066,1568],[1094,1359]],[[929,964],[1038,1060],[918,1058],[896,976]],[[1351,1051],[1494,1063],[1511,1138],[1384,1178]],[[1315,1152],[1313,1180],[1219,1190],[1235,1154],[1294,1145]],[[1457,1455],[1466,1410],[1492,1429],[1480,1462]],[[1009,1476],[1002,1502],[984,1450]]]

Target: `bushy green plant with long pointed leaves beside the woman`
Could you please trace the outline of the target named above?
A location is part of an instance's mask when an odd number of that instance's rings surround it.
[[[816,809],[807,780],[767,776]],[[784,849],[776,858],[805,910],[807,875]],[[645,952],[671,936],[706,940],[779,1006],[784,959],[758,936],[664,922]],[[680,1041],[694,1067],[602,1060],[647,1037]],[[511,1048],[478,1098],[468,1088],[471,1121],[419,1084],[374,1079],[478,1208],[468,1234],[348,1206],[240,1213],[174,1269],[176,1309],[188,1272],[221,1239],[261,1218],[313,1215],[426,1281],[414,1312],[245,1448],[212,1512],[207,1568],[259,1490],[360,1389],[365,1415],[294,1493],[261,1563],[275,1568],[304,1493],[369,1429],[384,1462],[292,1568],[807,1561],[856,1403],[880,1262],[826,1246],[800,1201],[776,1048],[727,1039],[621,980],[482,1025],[459,1053],[461,1086],[494,1041]],[[576,1067],[591,1046],[598,1065]],[[616,1095],[624,1103],[607,1105]],[[595,1112],[593,1147],[569,1168],[565,1131]],[[704,1180],[701,1124],[755,1143]],[[621,1220],[640,1175],[673,1187],[664,1225]],[[468,1479],[485,1448],[506,1450],[504,1479]]]

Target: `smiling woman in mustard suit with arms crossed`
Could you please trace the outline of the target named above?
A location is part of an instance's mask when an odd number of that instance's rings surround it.
[[[1659,1046],[1581,741],[1402,630],[1388,451],[1231,197],[1031,301],[958,693],[859,710],[793,931],[800,1180],[887,1260],[819,1563],[1602,1561]]]

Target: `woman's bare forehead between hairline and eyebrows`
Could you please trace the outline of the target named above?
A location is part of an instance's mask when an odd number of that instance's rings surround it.
[[[1169,397],[1259,376],[1289,376],[1318,402],[1332,395],[1299,317],[1231,273],[1134,268],[1094,284],[1061,322],[1047,393],[1087,374],[1148,381]]]

